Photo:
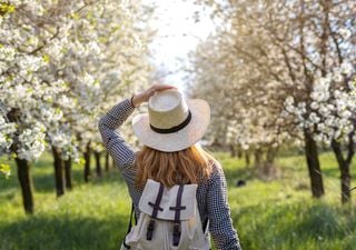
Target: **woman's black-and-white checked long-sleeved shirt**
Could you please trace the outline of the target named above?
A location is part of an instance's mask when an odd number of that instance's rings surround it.
[[[135,187],[136,169],[134,161],[136,152],[117,131],[134,112],[134,109],[130,100],[125,99],[100,119],[99,130],[106,149],[121,170],[135,211],[139,217],[138,203],[142,191]],[[197,202],[201,222],[209,221],[209,232],[216,248],[219,250],[240,250],[237,232],[230,218],[227,183],[219,164],[214,164],[210,178],[198,186]]]

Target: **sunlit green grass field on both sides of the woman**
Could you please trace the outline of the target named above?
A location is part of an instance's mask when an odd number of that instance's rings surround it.
[[[356,206],[340,206],[339,172],[330,153],[320,156],[326,196],[310,198],[303,156],[280,157],[279,177],[264,181],[243,160],[215,153],[224,166],[231,216],[244,250],[355,250]],[[354,163],[353,176],[356,174]],[[126,233],[130,200],[119,171],[82,181],[73,167],[75,189],[56,199],[53,168],[44,154],[31,169],[36,214],[24,216],[16,168],[0,178],[1,250],[113,250]],[[236,188],[244,179],[247,184]],[[353,186],[356,181],[353,181]],[[354,191],[354,197],[356,191]]]

